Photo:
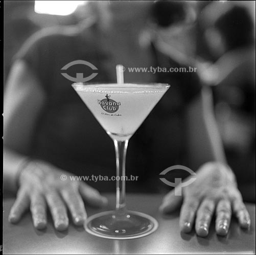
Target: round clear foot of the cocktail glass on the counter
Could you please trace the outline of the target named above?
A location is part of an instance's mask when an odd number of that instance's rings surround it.
[[[94,236],[108,239],[134,239],[145,237],[158,227],[151,216],[128,211],[124,216],[116,216],[115,211],[98,213],[85,222],[85,230]]]

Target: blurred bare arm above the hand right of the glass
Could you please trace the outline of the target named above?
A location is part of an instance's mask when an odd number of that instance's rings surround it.
[[[193,169],[198,169],[210,161],[226,164],[214,117],[211,91],[204,89],[200,98],[191,104],[187,120],[189,165]]]

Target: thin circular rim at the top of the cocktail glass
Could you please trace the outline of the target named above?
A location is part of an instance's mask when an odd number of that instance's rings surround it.
[[[130,83],[123,83],[123,84],[126,84],[126,85],[129,85],[129,84],[131,84],[131,85],[142,85],[144,88],[152,88],[153,87],[155,89],[171,87],[171,85],[168,84],[168,83],[156,83],[156,82],[152,82],[152,83],[139,83],[139,82],[131,83],[130,82]],[[93,88],[93,87],[95,87],[95,88],[102,87],[102,88],[104,88],[105,87],[104,85],[107,85],[108,88],[124,88],[124,87],[119,86],[120,84],[118,84],[118,83],[96,83],[96,82],[95,83],[75,82],[71,86],[73,88],[77,88],[77,87],[91,87],[91,88]],[[128,88],[128,86],[127,86],[127,88]]]

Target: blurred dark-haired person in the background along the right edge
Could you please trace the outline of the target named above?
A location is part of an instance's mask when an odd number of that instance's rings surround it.
[[[213,86],[227,161],[244,199],[255,202],[254,23],[248,8],[236,4],[213,3],[202,13],[205,39],[216,62],[203,66],[201,78]]]

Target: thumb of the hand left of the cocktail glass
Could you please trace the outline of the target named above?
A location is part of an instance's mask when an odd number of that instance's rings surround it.
[[[90,187],[86,183],[80,183],[79,192],[90,206],[103,207],[108,203],[108,199],[105,196],[102,196],[98,190]]]

